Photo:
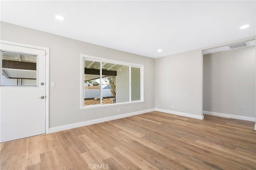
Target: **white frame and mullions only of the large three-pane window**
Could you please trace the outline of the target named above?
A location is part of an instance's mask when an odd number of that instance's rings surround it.
[[[81,73],[81,83],[80,83],[80,109],[94,109],[94,108],[101,108],[101,107],[111,107],[111,106],[120,106],[120,105],[127,105],[127,104],[138,104],[144,103],[144,65],[143,64],[134,64],[128,63],[123,61],[116,61],[111,59],[105,59],[101,57],[94,57],[91,55],[84,55],[81,54],[81,65],[80,65],[80,73]],[[129,66],[129,102],[123,103],[115,103],[115,104],[102,104],[102,99],[100,98],[100,104],[97,105],[88,105],[84,106],[84,61],[96,61],[100,62],[100,97],[102,96],[102,63],[113,63],[113,64],[121,64],[125,66]],[[140,100],[131,101],[131,67],[140,68]]]

